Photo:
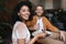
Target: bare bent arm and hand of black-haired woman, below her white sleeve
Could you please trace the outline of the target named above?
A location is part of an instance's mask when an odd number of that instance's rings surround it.
[[[24,38],[19,38],[18,43],[19,44],[34,44],[35,41],[38,40],[38,37],[44,37],[46,34],[45,33],[38,33],[37,35],[35,35],[29,43],[25,43]]]

